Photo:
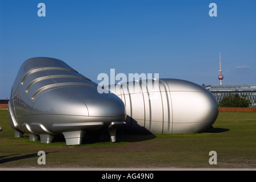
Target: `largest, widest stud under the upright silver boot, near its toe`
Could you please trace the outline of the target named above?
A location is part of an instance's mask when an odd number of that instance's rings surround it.
[[[65,137],[67,145],[82,144],[83,135],[85,131],[66,131],[62,133]]]

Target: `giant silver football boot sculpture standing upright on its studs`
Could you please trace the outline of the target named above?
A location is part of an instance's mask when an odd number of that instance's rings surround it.
[[[63,134],[67,145],[81,144],[86,131],[107,129],[115,142],[126,110],[114,94],[99,94],[97,84],[61,60],[35,57],[19,69],[11,89],[9,122],[15,137],[51,143]]]

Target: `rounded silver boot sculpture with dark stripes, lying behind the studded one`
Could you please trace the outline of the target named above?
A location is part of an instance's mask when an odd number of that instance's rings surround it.
[[[218,117],[214,96],[200,85],[177,79],[150,79],[105,87],[126,106],[126,125],[133,133],[201,133]],[[123,131],[122,130],[122,131]]]

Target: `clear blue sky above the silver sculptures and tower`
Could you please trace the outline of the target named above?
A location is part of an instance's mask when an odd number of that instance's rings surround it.
[[[39,17],[38,3],[46,16]],[[210,3],[217,17],[210,17]],[[256,84],[256,1],[0,0],[0,99],[22,63],[65,61],[99,73],[159,73],[196,84]]]

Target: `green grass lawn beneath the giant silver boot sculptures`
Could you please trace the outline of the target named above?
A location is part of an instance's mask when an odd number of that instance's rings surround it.
[[[1,167],[114,167],[114,168],[255,168],[256,113],[219,113],[214,129],[201,134],[118,134],[117,142],[85,138],[80,146],[31,142],[27,134],[14,138],[7,110],[0,110]],[[46,152],[39,165],[38,151]],[[209,164],[209,152],[217,164]]]

